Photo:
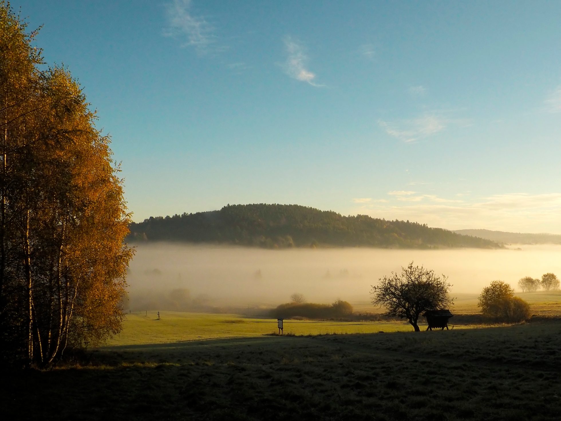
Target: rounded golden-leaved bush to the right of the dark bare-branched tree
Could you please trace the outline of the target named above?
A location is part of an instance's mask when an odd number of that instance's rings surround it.
[[[514,289],[503,281],[493,281],[481,291],[477,306],[487,317],[504,322],[522,322],[530,317],[530,306],[514,296]]]

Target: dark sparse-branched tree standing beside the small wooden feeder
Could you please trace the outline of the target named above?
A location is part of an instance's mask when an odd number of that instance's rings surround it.
[[[372,303],[384,306],[385,315],[406,318],[419,332],[417,321],[426,310],[439,310],[454,304],[448,296],[450,283],[448,277],[435,276],[434,271],[413,266],[411,262],[401,273],[392,272],[384,276],[378,285],[372,286]]]

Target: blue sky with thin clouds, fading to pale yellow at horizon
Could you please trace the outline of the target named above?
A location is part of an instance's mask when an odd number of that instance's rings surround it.
[[[12,2],[134,220],[297,203],[561,234],[561,2]]]

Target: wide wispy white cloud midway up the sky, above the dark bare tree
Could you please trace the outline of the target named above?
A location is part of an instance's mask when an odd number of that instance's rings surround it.
[[[388,122],[378,120],[378,124],[387,134],[405,143],[427,138],[446,128],[447,120],[434,114],[427,114],[413,120]]]

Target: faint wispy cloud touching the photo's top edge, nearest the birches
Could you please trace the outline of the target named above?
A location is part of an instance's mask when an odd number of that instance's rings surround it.
[[[164,35],[183,39],[182,47],[194,47],[200,54],[219,52],[224,49],[217,45],[215,29],[204,17],[191,13],[191,0],[173,0],[166,4],[168,27]]]

